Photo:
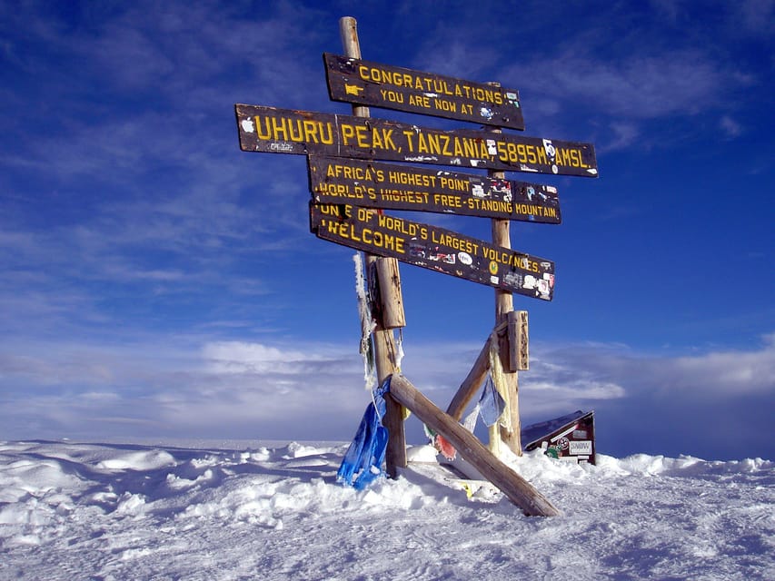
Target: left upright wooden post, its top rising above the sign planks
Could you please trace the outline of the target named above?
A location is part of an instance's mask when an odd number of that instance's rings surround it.
[[[358,23],[351,16],[344,16],[339,20],[339,34],[342,37],[342,46],[345,56],[361,58],[361,44],[358,41]],[[369,117],[369,108],[361,105],[353,105],[353,115],[357,117]],[[377,327],[372,334],[374,342],[374,363],[377,368],[377,379],[380,384],[389,375],[399,369],[396,359],[395,340],[392,328],[403,325],[403,300],[401,298],[401,280],[398,276],[398,263],[395,259],[385,259],[366,254],[366,276],[369,277],[369,288],[382,281],[390,281],[385,286],[380,285],[380,305]],[[374,280],[374,278],[376,280]],[[391,300],[385,300],[390,294]],[[386,301],[388,304],[385,307]],[[389,320],[385,320],[383,314],[389,312]],[[401,322],[401,325],[395,324]],[[387,323],[387,324],[386,324]],[[383,425],[388,430],[389,438],[385,452],[385,468],[390,478],[398,476],[398,468],[406,468],[406,436],[403,425],[403,408],[395,399],[385,398],[386,411]]]

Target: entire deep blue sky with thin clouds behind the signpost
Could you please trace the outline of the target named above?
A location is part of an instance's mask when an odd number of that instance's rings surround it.
[[[363,58],[499,81],[525,134],[595,144],[599,179],[534,180],[558,188],[561,225],[512,224],[557,270],[551,302],[515,297],[523,422],[595,409],[603,453],[775,457],[773,12],[0,4],[0,438],[353,436],[369,400],[353,251],[310,234],[303,157],[241,152],[233,114],[349,113],[321,54],[342,53],[351,15]],[[411,266],[402,284],[402,369],[446,407],[492,289]]]

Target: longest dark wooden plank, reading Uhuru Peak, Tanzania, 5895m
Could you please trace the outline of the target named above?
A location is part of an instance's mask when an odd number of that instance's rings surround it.
[[[461,168],[597,177],[591,143],[442,131],[383,119],[234,105],[245,152],[333,155]]]

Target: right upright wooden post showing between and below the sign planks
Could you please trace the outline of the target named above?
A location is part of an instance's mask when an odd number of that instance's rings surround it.
[[[494,86],[500,86],[500,84],[492,83]],[[500,129],[492,129],[492,133],[501,133]],[[492,178],[505,178],[504,172],[493,172],[489,170],[487,175]],[[508,220],[492,220],[492,243],[504,248],[512,248],[512,240],[510,235],[510,227]],[[495,289],[495,324],[499,325],[504,320],[507,320],[509,312],[514,310],[514,300],[512,293],[509,291],[502,291]],[[503,379],[505,385],[501,386],[506,390],[506,393],[502,394],[503,399],[506,400],[509,406],[509,412],[512,418],[512,425],[508,428],[498,429],[499,424],[494,424],[490,428],[490,445],[495,449],[497,444],[493,442],[493,439],[501,439],[506,445],[512,449],[512,452],[517,456],[522,456],[522,438],[520,437],[520,430],[522,425],[520,422],[520,402],[519,402],[519,384],[517,381],[517,374],[511,370],[511,356],[509,355],[509,341],[499,340],[500,343],[500,355],[503,368]],[[494,429],[493,429],[494,428]],[[500,431],[500,434],[498,434]]]

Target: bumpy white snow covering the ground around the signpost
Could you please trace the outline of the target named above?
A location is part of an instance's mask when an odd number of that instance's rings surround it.
[[[411,471],[342,487],[346,448],[0,441],[0,579],[775,579],[769,460],[505,458],[542,518]]]

